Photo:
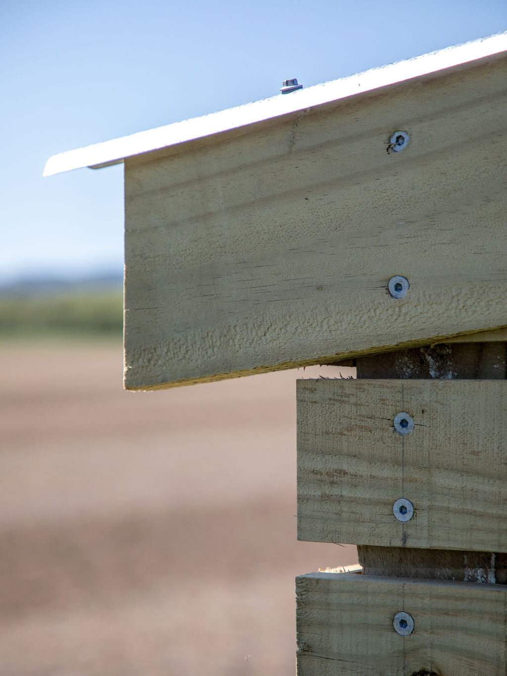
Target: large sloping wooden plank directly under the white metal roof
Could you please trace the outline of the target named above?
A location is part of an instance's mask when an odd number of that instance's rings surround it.
[[[125,384],[507,326],[505,53],[125,160]],[[394,130],[408,147],[386,149]],[[387,292],[391,276],[410,282]]]

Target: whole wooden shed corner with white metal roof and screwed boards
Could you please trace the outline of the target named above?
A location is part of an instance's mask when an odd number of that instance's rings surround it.
[[[507,33],[49,160],[124,163],[124,383],[310,364],[298,673],[507,669]]]

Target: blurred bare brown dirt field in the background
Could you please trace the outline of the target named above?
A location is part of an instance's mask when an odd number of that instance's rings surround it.
[[[0,675],[293,676],[286,371],[122,390],[114,341],[0,343]]]

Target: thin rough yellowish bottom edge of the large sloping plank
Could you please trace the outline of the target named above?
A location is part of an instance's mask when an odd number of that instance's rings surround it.
[[[385,347],[372,347],[370,349],[358,350],[356,352],[341,352],[327,357],[317,357],[315,359],[305,359],[295,362],[283,362],[281,364],[266,364],[263,366],[255,366],[254,368],[246,368],[244,370],[229,371],[226,373],[214,373],[199,378],[180,379],[178,381],[171,381],[168,383],[157,383],[156,385],[135,385],[130,386],[126,384],[126,373],[128,372],[128,365],[125,363],[124,351],[124,389],[128,391],[144,391],[149,392],[158,389],[170,389],[172,387],[184,387],[185,385],[199,385],[201,383],[214,383],[216,381],[230,380],[233,378],[243,378],[245,376],[259,375],[261,373],[271,373],[274,371],[284,371],[291,368],[305,368],[306,366],[343,366],[345,360],[351,360],[356,357],[366,356],[368,354],[383,354],[385,352],[396,352],[399,349],[408,349],[410,347],[423,347],[425,345],[437,345],[438,343],[481,343],[492,341],[507,341],[507,326],[494,327],[485,331],[473,333],[459,333],[454,336],[437,336],[431,339],[420,339],[416,341],[403,341],[395,345],[385,345]],[[339,364],[338,362],[342,362]]]

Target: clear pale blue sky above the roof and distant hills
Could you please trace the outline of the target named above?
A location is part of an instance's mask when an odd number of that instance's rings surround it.
[[[4,0],[0,282],[122,270],[122,166],[50,155],[501,30],[505,0]]]

